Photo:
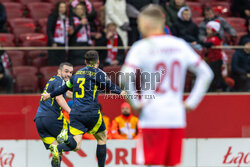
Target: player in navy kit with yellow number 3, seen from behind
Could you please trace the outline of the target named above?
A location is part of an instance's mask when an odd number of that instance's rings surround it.
[[[52,145],[53,157],[59,159],[58,152],[62,152],[68,147],[72,150],[78,150],[81,147],[82,135],[85,132],[93,134],[97,140],[96,155],[98,166],[104,167],[106,160],[106,127],[100,113],[98,103],[98,88],[100,85],[106,86],[113,93],[125,95],[118,86],[114,85],[107,74],[98,68],[99,56],[96,51],[88,51],[85,54],[86,67],[78,70],[66,85],[51,93],[44,93],[43,100],[53,98],[73,88],[73,106],[70,112],[69,131],[61,133],[64,143],[58,146]]]

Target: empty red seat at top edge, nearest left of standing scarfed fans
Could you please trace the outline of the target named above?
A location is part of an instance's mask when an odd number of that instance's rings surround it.
[[[30,16],[38,21],[42,18],[48,18],[52,11],[53,5],[45,2],[32,2],[27,5]]]

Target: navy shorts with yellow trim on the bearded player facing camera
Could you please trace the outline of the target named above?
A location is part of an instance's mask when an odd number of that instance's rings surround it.
[[[35,119],[36,128],[46,149],[56,140],[63,128],[63,119],[57,120],[55,117],[38,117]]]

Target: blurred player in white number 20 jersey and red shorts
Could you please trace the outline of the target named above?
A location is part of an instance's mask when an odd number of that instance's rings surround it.
[[[191,110],[202,100],[213,73],[208,65],[184,40],[164,34],[165,16],[161,7],[147,6],[138,18],[144,39],[130,49],[122,68],[123,73],[141,70],[151,90],[142,91],[142,99],[130,99],[132,106],[141,111],[142,131],[137,147],[137,162],[145,165],[177,166],[181,162],[182,141],[186,126],[185,110]],[[187,100],[183,90],[187,70],[196,74],[196,82]],[[159,82],[145,76],[161,74]],[[157,79],[156,79],[157,80]],[[129,85],[128,95],[134,95],[132,78],[122,80]],[[146,84],[148,84],[146,83]],[[147,87],[147,86],[146,86]],[[145,99],[152,95],[154,99]],[[135,96],[133,96],[135,97]]]

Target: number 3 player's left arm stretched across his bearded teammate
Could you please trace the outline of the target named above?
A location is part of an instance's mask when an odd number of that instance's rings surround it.
[[[53,92],[51,92],[51,93],[47,93],[47,92],[43,93],[42,94],[43,101],[46,101],[46,100],[48,100],[50,98],[56,97],[58,95],[61,95],[61,94],[65,93],[65,92],[67,92],[70,88],[73,87],[71,82],[72,81],[70,79],[70,80],[68,80],[66,82],[66,84],[64,84],[63,86],[61,86],[58,89],[54,90]]]

